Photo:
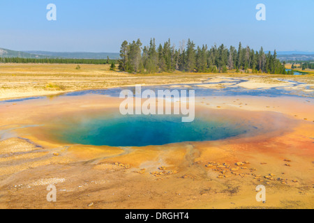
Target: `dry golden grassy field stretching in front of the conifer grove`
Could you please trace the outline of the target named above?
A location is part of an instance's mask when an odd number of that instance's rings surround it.
[[[209,78],[239,77],[249,79],[253,86],[259,84],[278,84],[278,79],[297,80],[306,84],[314,84],[313,75],[287,76],[267,74],[241,74],[230,72],[217,73],[162,73],[151,75],[133,75],[126,72],[114,72],[110,65],[80,65],[76,64],[17,64],[0,63],[0,100],[21,98],[35,95],[55,95],[69,91],[87,89],[107,89],[135,84],[193,84],[202,83]],[[285,83],[283,83],[285,84]],[[262,85],[263,86],[263,85]]]

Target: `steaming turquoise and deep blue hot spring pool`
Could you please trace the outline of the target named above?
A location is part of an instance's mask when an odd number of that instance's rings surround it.
[[[63,121],[62,121],[63,122]],[[222,118],[195,118],[182,123],[181,116],[105,116],[77,118],[53,130],[54,137],[71,144],[94,146],[149,146],[184,141],[212,141],[236,137],[252,127]]]

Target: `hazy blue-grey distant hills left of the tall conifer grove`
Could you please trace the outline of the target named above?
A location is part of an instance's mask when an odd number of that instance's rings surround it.
[[[64,58],[64,59],[119,59],[118,53],[93,52],[45,52],[45,51],[14,51],[0,48],[0,57],[21,57],[31,59]]]

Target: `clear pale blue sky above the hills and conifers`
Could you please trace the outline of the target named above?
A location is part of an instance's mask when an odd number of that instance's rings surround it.
[[[57,21],[46,6],[57,6]],[[264,3],[266,21],[255,19]],[[10,0],[0,1],[0,47],[57,52],[119,52],[123,40],[144,45],[190,38],[196,45],[239,41],[254,49],[314,52],[313,0]]]

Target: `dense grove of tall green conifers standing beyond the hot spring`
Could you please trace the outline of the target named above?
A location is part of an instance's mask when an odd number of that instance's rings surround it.
[[[202,47],[188,39],[187,43],[181,43],[179,48],[171,45],[170,39],[163,45],[156,46],[155,38],[150,40],[149,45],[142,47],[140,39],[132,43],[124,41],[121,44],[119,70],[131,73],[156,73],[174,72],[267,72],[272,74],[286,74],[285,66],[274,54],[265,53],[263,48],[254,51],[250,47],[238,49],[225,45]]]

